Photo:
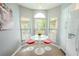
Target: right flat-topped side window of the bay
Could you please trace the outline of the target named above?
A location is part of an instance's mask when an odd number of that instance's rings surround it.
[[[57,35],[57,17],[50,18],[49,21],[49,37],[56,41],[56,35]]]

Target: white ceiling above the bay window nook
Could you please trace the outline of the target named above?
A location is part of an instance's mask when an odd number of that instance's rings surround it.
[[[19,3],[23,7],[36,10],[48,10],[61,5],[61,3]]]

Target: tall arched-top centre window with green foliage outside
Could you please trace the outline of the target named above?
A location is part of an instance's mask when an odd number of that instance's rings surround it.
[[[45,34],[46,31],[46,17],[45,14],[39,12],[34,15],[34,34]]]

